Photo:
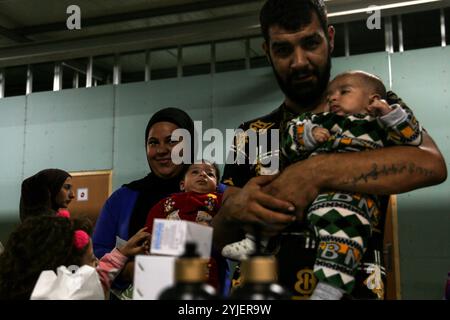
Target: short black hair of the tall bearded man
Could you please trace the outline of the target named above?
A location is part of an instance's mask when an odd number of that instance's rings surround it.
[[[259,15],[265,41],[269,43],[270,27],[278,25],[286,30],[300,30],[311,23],[313,12],[327,34],[327,9],[323,0],[267,0]]]

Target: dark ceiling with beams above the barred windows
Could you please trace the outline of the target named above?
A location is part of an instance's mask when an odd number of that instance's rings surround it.
[[[260,33],[258,12],[263,2],[0,0],[0,67],[257,37]],[[405,1],[326,1],[331,14],[395,2]],[[70,5],[80,8],[80,30],[68,30],[66,26],[66,20],[71,15],[66,10]],[[386,10],[383,14],[449,5],[446,0],[435,1]],[[364,16],[367,17],[367,13],[330,20],[341,22],[362,19]],[[197,54],[192,53],[191,56],[190,59],[195,60]]]

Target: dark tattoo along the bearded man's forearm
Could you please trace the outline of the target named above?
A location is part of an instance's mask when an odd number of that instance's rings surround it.
[[[372,169],[370,171],[361,173],[359,176],[355,176],[345,184],[352,184],[354,186],[359,183],[368,183],[370,180],[378,180],[379,177],[382,176],[393,176],[398,174],[419,174],[424,175],[426,177],[434,174],[432,170],[428,170],[422,167],[416,166],[414,163],[408,164],[392,164],[390,166],[383,165],[382,167],[378,167],[376,163],[372,164]]]

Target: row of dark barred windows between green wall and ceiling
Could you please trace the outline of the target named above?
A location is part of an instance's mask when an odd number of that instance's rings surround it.
[[[333,57],[446,46],[450,42],[450,7],[394,16],[386,14],[382,16],[380,29],[369,29],[367,19],[347,20],[334,27]],[[263,41],[262,36],[250,36],[30,66],[6,66],[0,70],[0,98],[268,67]]]

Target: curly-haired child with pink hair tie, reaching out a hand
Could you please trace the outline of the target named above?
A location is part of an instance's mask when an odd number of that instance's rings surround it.
[[[0,255],[0,300],[30,299],[41,273],[58,269],[59,274],[61,266],[77,272],[85,265],[94,267],[98,274],[96,285],[104,294],[97,298],[108,297],[112,281],[128,258],[148,253],[150,234],[145,228],[139,230],[124,246],[97,261],[91,229],[88,220],[46,215],[26,219],[10,235]],[[69,299],[49,294],[39,298]]]

